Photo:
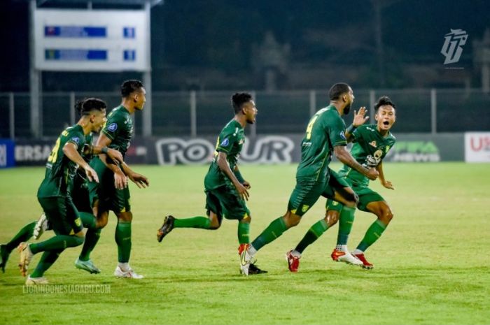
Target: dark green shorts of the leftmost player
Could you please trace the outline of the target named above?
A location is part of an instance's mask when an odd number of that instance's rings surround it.
[[[73,235],[82,231],[83,224],[71,196],[37,198],[57,235]]]

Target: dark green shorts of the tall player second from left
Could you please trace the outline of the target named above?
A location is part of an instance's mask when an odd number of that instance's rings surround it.
[[[93,207],[94,202],[99,200],[99,211],[129,212],[131,210],[130,188],[116,189],[114,173],[104,165],[99,157],[94,157],[90,161],[90,166],[99,176],[99,183],[88,183],[90,205]]]

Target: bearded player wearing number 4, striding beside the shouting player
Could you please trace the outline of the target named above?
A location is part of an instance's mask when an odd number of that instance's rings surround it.
[[[337,83],[329,91],[330,105],[318,110],[309,120],[301,143],[301,161],[296,172],[296,186],[289,198],[288,210],[282,217],[275,219],[260,236],[253,240],[247,250],[241,253],[241,273],[248,275],[255,253],[264,245],[272,242],[281,234],[296,226],[320,196],[333,198],[349,207],[355,207],[356,194],[345,183],[331,175],[330,160],[332,153],[347,166],[367,176],[377,178],[374,168],[361,166],[345,149],[345,123],[340,117],[349,113],[354,100],[351,87]]]

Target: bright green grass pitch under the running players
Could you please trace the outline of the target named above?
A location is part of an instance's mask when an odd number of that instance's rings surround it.
[[[334,165],[337,169],[339,166]],[[282,215],[295,165],[241,167],[251,182],[251,236]],[[266,275],[239,275],[237,224],[221,229],[176,229],[162,243],[164,215],[204,214],[207,166],[135,166],[151,187],[131,185],[132,267],[144,280],[118,280],[111,215],[92,259],[102,273],[73,266],[80,247],[66,250],[46,273],[53,285],[108,284],[110,294],[25,294],[13,252],[0,273],[0,324],[489,324],[490,212],[488,164],[387,164],[395,191],[373,188],[395,217],[367,251],[375,268],[333,263],[337,226],[329,229],[290,273],[284,253],[324,213],[316,203],[299,226],[257,254]],[[43,168],[0,171],[0,242],[41,212],[36,190]],[[356,213],[355,248],[374,216]],[[51,236],[46,233],[43,239]],[[34,258],[36,265],[38,256]]]

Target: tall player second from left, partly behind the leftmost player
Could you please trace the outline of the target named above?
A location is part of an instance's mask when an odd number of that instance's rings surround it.
[[[111,147],[119,150],[123,156],[128,147],[133,133],[131,115],[136,110],[143,110],[146,101],[144,85],[139,80],[126,80],[121,85],[120,106],[114,108],[109,114],[108,120],[97,139],[97,145]],[[117,163],[117,162],[116,162]],[[90,260],[90,253],[99,241],[100,232],[109,221],[109,210],[118,217],[116,226],[116,243],[118,245],[118,266],[114,271],[116,277],[130,277],[141,279],[130,267],[131,254],[131,222],[132,212],[130,205],[130,189],[127,187],[127,178],[130,178],[139,188],[149,185],[148,179],[139,173],[135,173],[124,162],[120,165],[115,161],[106,159],[100,155],[90,161],[99,176],[100,183],[89,182],[90,202],[97,215],[97,229],[88,229],[83,243],[82,252],[75,265],[77,268],[87,270],[90,273],[99,273],[100,270]]]

